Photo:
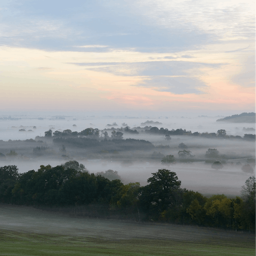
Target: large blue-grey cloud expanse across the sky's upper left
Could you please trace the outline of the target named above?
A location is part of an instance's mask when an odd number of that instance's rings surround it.
[[[59,5],[46,0],[43,3],[9,4],[9,12],[3,16],[0,28],[0,45],[54,51],[100,51],[110,47],[170,52],[198,47],[207,41],[207,35],[198,30],[170,30],[147,24],[143,22],[143,15],[134,12],[125,2],[117,5],[75,1]]]

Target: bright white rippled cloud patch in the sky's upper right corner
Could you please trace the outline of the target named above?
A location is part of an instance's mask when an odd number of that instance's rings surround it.
[[[204,0],[140,0],[137,12],[146,22],[169,29],[201,31],[216,39],[252,38],[255,3]],[[143,10],[143,12],[142,12]]]

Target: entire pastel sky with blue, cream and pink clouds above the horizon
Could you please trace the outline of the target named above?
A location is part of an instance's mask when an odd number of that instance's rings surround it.
[[[0,3],[0,108],[255,110],[255,1]]]

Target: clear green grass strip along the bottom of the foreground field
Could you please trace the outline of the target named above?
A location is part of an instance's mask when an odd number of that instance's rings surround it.
[[[182,242],[170,239],[86,238],[67,235],[29,234],[0,231],[0,255],[255,255],[251,241],[214,239],[213,241]]]

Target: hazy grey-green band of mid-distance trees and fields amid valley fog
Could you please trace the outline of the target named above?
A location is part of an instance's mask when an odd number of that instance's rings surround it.
[[[137,127],[135,130],[130,129],[129,126],[121,129],[112,127],[101,131],[87,128],[81,132],[72,132],[68,129],[55,132],[48,130],[44,137],[37,136],[35,139],[0,140],[0,161],[12,161],[13,159],[27,161],[39,157],[66,159],[66,161],[80,158],[104,159],[123,164],[158,162],[166,166],[173,163],[205,161],[206,164],[213,164],[213,169],[219,170],[226,164],[226,161],[230,160],[232,164],[235,164],[236,169],[253,173],[253,167],[249,164],[255,161],[251,159],[253,156],[248,149],[254,140],[255,134],[244,134],[242,138],[227,135],[223,129],[218,130],[217,133],[191,133],[182,129],[169,131],[151,126],[143,129]],[[187,142],[188,145],[186,145]],[[237,147],[238,143],[239,147]],[[213,145],[225,146],[225,148],[221,153]],[[240,150],[241,146],[245,150]],[[237,148],[236,152],[233,148]],[[247,166],[239,167],[242,165],[240,161]],[[214,164],[214,162],[221,163],[217,165],[218,163]]]

